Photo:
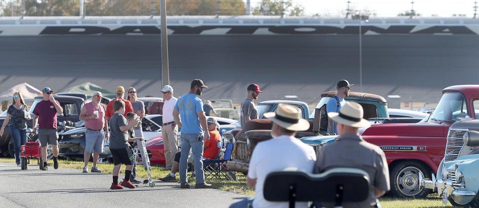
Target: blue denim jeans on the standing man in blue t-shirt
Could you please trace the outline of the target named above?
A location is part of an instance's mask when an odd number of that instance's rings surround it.
[[[180,183],[188,183],[186,177],[188,171],[188,155],[190,149],[193,153],[193,163],[195,165],[195,177],[197,184],[205,183],[205,172],[203,171],[203,156],[204,134],[181,134],[181,157],[180,157]]]

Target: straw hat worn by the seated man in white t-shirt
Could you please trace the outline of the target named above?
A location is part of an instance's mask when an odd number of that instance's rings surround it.
[[[287,130],[305,131],[309,129],[309,122],[301,118],[301,110],[292,105],[278,104],[275,112],[264,113],[264,117]]]

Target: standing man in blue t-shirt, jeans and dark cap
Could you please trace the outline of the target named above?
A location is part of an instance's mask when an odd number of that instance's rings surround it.
[[[193,162],[195,165],[195,189],[211,188],[211,184],[205,183],[205,172],[203,171],[203,162],[201,161],[205,140],[210,140],[206,116],[203,111],[203,102],[197,97],[197,95],[200,96],[202,94],[203,88],[208,87],[201,79],[193,80],[190,85],[190,92],[178,99],[175,109],[173,110],[175,123],[181,128],[181,157],[179,169],[181,189],[190,188],[186,177],[190,149],[193,153]]]

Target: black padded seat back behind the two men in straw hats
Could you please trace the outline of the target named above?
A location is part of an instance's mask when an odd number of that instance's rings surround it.
[[[321,174],[285,169],[266,176],[264,199],[271,202],[363,202],[369,194],[369,176],[360,169],[334,168]]]

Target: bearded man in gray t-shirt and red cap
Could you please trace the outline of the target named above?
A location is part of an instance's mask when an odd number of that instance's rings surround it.
[[[249,120],[258,119],[258,110],[256,109],[253,100],[258,99],[259,93],[263,92],[259,90],[259,86],[257,84],[250,84],[247,88],[247,91],[248,97],[243,100],[240,108],[241,128],[244,128]]]

